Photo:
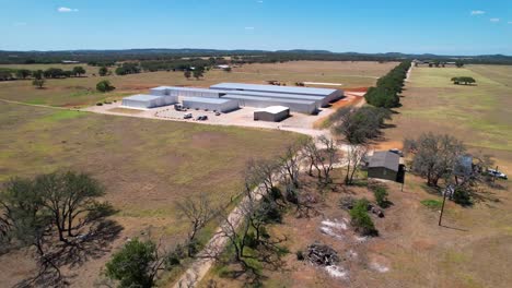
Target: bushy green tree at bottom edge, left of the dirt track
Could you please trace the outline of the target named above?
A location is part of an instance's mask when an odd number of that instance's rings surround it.
[[[119,287],[150,288],[163,262],[153,242],[136,238],[113,255],[106,264],[106,276],[118,280]]]

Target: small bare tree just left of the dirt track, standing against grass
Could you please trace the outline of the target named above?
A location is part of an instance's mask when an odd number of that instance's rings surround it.
[[[187,197],[176,204],[181,217],[186,217],[190,224],[188,231],[188,256],[194,256],[197,233],[205,228],[214,216],[216,209],[211,206],[208,194],[200,193],[196,197]]]

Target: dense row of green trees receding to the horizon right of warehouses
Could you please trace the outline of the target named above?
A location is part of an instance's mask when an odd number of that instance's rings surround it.
[[[410,61],[404,61],[386,75],[377,80],[375,87],[370,87],[364,95],[366,103],[375,107],[394,108],[400,104],[399,94],[403,91]]]

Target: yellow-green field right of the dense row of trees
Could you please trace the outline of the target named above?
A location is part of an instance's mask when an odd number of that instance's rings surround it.
[[[450,79],[459,75],[473,76],[477,86],[453,85]],[[393,117],[397,128],[386,130],[386,137],[444,132],[512,163],[511,95],[512,67],[415,68]]]

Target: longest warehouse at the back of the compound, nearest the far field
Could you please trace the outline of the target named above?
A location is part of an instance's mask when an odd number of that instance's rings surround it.
[[[328,104],[328,103],[338,100],[344,96],[344,92],[340,89],[290,87],[290,86],[244,84],[244,83],[220,83],[220,84],[210,86],[210,89],[264,92],[264,93],[294,94],[294,95],[304,95],[304,96],[306,95],[319,96],[319,97],[325,98],[325,101],[323,104]]]

